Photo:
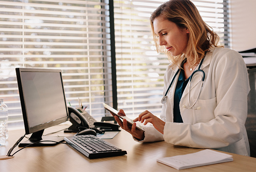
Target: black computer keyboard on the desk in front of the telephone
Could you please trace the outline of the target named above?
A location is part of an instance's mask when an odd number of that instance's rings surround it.
[[[125,155],[127,152],[94,135],[64,137],[79,152],[90,159]]]

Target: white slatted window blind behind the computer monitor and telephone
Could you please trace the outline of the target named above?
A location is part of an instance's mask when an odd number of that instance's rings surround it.
[[[61,69],[69,103],[80,99],[101,119],[101,103],[112,104],[108,9],[101,0],[0,1],[0,97],[9,127],[23,125],[16,67]]]

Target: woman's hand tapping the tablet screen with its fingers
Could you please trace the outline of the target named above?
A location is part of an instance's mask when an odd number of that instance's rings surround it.
[[[165,122],[163,120],[161,120],[160,118],[158,118],[157,116],[153,115],[148,110],[139,114],[139,117],[137,117],[133,121],[134,122],[141,121],[141,123],[143,123],[145,121],[144,125],[146,125],[147,123],[151,123],[151,124],[153,124],[155,129],[157,129],[157,131],[159,131],[163,134],[163,129],[164,129]]]

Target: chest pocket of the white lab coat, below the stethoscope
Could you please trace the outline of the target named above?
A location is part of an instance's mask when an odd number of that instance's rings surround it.
[[[217,106],[216,97],[208,100],[199,99],[195,104],[195,107],[199,106],[201,107],[200,110],[194,110],[197,117],[197,123],[206,123],[215,118],[214,110]]]

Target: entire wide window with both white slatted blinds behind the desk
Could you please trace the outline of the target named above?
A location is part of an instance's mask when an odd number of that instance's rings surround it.
[[[169,62],[154,51],[149,17],[164,1],[110,1],[117,70],[113,86],[118,109],[131,118],[146,109],[155,115],[161,112]],[[193,2],[226,45],[226,0]],[[71,105],[78,105],[79,98],[97,120],[109,114],[101,104],[116,103],[108,5],[107,0],[0,0],[0,97],[9,108],[9,127],[23,125],[16,67],[61,69]]]

